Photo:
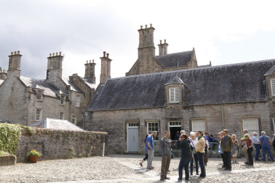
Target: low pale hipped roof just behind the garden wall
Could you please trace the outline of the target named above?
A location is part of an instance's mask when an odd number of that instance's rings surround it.
[[[44,127],[44,128],[50,128],[50,129],[58,129],[58,130],[78,130],[78,131],[84,131],[82,128],[78,127],[77,125],[74,125],[73,123],[67,121],[67,120],[61,120],[61,119],[50,119],[45,118],[39,121],[38,123],[34,123],[30,125],[31,127]]]

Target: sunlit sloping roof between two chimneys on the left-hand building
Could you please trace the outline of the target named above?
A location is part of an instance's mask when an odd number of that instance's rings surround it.
[[[20,76],[19,78],[23,84],[27,87],[31,88],[39,88],[41,90],[44,90],[44,95],[50,96],[50,97],[56,97],[56,92],[59,90],[54,86],[54,84],[50,84],[48,82],[45,82],[44,80],[36,80],[30,77]]]

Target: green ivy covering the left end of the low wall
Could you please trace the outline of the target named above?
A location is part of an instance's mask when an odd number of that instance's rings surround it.
[[[21,131],[32,134],[30,127],[23,125],[14,125],[8,123],[0,123],[0,151],[15,154],[21,138]]]

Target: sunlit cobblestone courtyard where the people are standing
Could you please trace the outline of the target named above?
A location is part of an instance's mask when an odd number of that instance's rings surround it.
[[[144,156],[111,155],[106,157],[45,160],[36,164],[18,163],[0,167],[0,182],[161,182],[159,181],[161,158],[155,157],[153,171],[146,171],[138,164]],[[248,167],[238,159],[232,171],[221,168],[221,159],[210,158],[206,178],[190,176],[189,182],[274,182],[275,163],[254,162]],[[171,160],[170,180],[177,182],[179,158]],[[184,182],[184,181],[183,181]]]

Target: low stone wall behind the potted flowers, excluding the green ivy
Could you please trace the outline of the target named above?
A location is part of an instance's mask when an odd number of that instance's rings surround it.
[[[40,160],[101,156],[103,143],[107,154],[107,132],[50,130],[33,128],[22,131],[17,150],[17,162],[27,162],[32,149],[41,152]]]

